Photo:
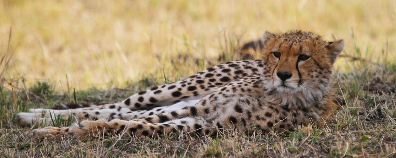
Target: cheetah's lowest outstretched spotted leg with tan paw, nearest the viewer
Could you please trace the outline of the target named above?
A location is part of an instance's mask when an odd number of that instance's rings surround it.
[[[163,123],[146,123],[132,120],[114,119],[109,122],[105,120],[82,121],[80,124],[73,124],[70,127],[56,128],[46,127],[33,130],[34,140],[56,140],[62,139],[62,135],[74,136],[80,139],[88,135],[130,135],[156,137],[162,134],[202,134],[209,133],[213,128],[212,124],[204,122],[196,117],[185,117],[182,119],[170,120]]]

